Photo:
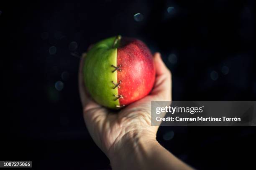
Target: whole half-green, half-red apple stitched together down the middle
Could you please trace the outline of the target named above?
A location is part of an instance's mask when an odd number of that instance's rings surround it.
[[[151,91],[155,81],[152,54],[140,40],[110,37],[97,42],[84,59],[84,84],[100,105],[118,109]]]

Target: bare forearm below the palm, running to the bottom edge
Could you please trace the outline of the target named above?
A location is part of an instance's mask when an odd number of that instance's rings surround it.
[[[113,170],[192,170],[154,139],[136,138],[118,147],[110,158]]]

